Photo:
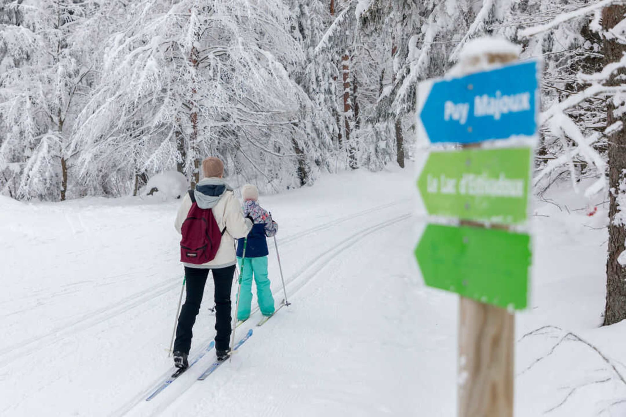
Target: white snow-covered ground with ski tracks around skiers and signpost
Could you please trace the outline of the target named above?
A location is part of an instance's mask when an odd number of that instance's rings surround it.
[[[357,171],[262,196],[292,305],[261,328],[255,313],[232,361],[195,381],[207,354],[150,402],[171,373],[178,203],[0,198],[0,415],[454,416],[457,298],[419,278],[413,178]],[[623,416],[626,329],[598,328],[606,209],[587,216],[570,189],[546,198],[531,307],[516,322],[516,416]],[[280,300],[273,247],[269,259]],[[192,353],[214,334],[212,291]]]

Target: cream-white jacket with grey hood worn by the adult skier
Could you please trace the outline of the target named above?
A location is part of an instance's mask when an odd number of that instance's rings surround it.
[[[222,235],[220,248],[217,249],[217,254],[215,254],[215,258],[212,261],[201,265],[183,262],[183,265],[190,268],[226,268],[234,265],[237,263],[234,239],[248,236],[250,229],[252,229],[252,221],[244,218],[241,203],[235,197],[232,188],[220,178],[202,179],[197,184],[194,195],[198,206],[203,209],[212,209],[213,217],[215,217],[220,230],[225,227],[226,231]],[[174,223],[178,233],[181,233],[183,222],[187,218],[192,204],[192,199],[186,193],[180,208],[178,208],[178,214]]]

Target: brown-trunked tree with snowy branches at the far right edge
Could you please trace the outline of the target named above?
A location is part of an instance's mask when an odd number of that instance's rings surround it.
[[[522,31],[526,36],[543,34],[565,24],[571,27],[572,21],[592,15],[588,28],[601,39],[601,49],[587,43],[585,48],[595,48],[595,52],[603,57],[602,67],[595,72],[575,74],[570,84],[581,86],[580,91],[575,94],[566,91],[564,98],[551,103],[542,114],[541,121],[550,133],[562,139],[563,151],[546,164],[540,177],[545,176],[546,171],[567,164],[575,181],[580,175],[575,163],[582,161],[594,168],[592,174],[596,181],[585,190],[590,196],[606,189],[608,174],[610,202],[604,324],[626,318],[626,222],[622,211],[626,201],[626,87],[623,84],[626,75],[626,6],[611,3],[620,2],[605,0],[586,5],[555,16],[548,24]],[[607,112],[605,116],[598,114],[603,111]],[[586,123],[590,127],[585,126]],[[602,125],[603,131],[598,129]],[[603,149],[607,149],[606,154]]]

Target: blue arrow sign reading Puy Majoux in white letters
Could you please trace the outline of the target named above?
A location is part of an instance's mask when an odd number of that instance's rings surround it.
[[[466,144],[513,135],[533,136],[537,130],[539,76],[540,63],[526,61],[420,84],[420,88],[431,86],[428,96],[418,103],[429,141]]]

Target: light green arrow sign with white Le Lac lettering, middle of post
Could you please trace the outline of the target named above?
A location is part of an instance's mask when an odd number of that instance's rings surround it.
[[[528,216],[530,148],[432,152],[418,188],[428,214],[518,224]]]

